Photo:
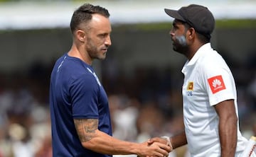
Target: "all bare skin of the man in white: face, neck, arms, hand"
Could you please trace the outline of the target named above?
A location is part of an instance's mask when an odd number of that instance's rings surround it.
[[[198,40],[196,30],[194,28],[186,28],[181,21],[174,20],[173,28],[170,33],[173,41],[173,49],[185,55],[188,60],[191,60],[196,51],[204,45]],[[181,37],[183,39],[181,40]],[[185,42],[184,42],[185,38]],[[238,117],[235,113],[234,100],[225,100],[214,105],[215,111],[219,117],[219,138],[222,157],[234,157],[238,139]],[[155,141],[166,144],[166,139],[155,137],[149,139],[148,143],[152,144]],[[185,130],[170,137],[173,149],[187,144]]]

